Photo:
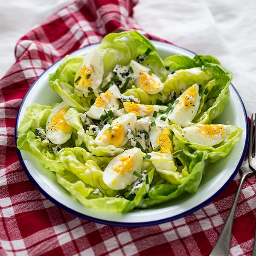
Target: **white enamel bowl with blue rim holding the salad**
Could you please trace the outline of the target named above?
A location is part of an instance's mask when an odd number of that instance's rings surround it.
[[[187,55],[193,57],[195,54],[186,49],[158,41],[152,41],[160,57],[163,59],[169,55]],[[85,55],[90,49],[98,47],[94,44],[73,52],[71,55]],[[17,140],[17,127],[23,119],[25,109],[33,103],[52,105],[61,102],[61,98],[55,93],[48,83],[48,76],[55,72],[62,60],[57,61],[49,67],[30,87],[21,103],[15,125],[15,141]],[[243,129],[241,140],[236,143],[230,153],[224,159],[216,163],[206,163],[205,175],[195,194],[184,193],[179,198],[159,204],[150,209],[134,209],[125,215],[119,213],[101,212],[99,210],[87,209],[79,201],[71,197],[60,184],[58,184],[55,173],[45,169],[42,163],[26,151],[17,149],[17,154],[24,171],[29,179],[50,201],[68,212],[81,218],[102,224],[116,226],[148,226],[160,224],[181,218],[204,207],[217,197],[233,180],[240,169],[241,163],[248,144],[248,120],[243,102],[233,85],[230,85],[230,99],[223,113],[214,120],[214,123],[226,123],[237,125]]]

